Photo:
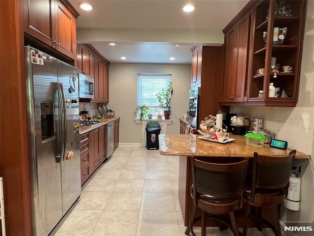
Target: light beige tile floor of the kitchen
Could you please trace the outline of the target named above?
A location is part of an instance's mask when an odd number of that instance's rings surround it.
[[[185,236],[178,173],[178,156],[119,147],[84,183],[81,197],[50,236]],[[195,233],[200,236],[198,227]],[[207,236],[232,235],[207,230]],[[274,234],[250,229],[248,235]]]

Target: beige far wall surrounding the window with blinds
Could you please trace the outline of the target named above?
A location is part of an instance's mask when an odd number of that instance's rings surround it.
[[[192,54],[191,54],[192,57]],[[112,63],[109,65],[109,103],[107,107],[120,116],[121,144],[142,143],[142,125],[135,124],[137,106],[137,74],[167,73],[172,75],[171,125],[167,133],[180,132],[179,118],[188,110],[188,91],[191,85],[191,64],[137,64]]]

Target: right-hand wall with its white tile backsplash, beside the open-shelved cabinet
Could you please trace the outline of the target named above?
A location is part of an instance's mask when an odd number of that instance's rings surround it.
[[[276,138],[287,140],[289,148],[305,152],[314,157],[314,1],[309,0],[305,24],[302,54],[299,98],[296,107],[231,107],[236,113],[244,112],[250,117],[263,118],[267,129],[276,133]],[[288,35],[287,35],[288,36]],[[314,164],[314,160],[311,160]],[[308,160],[296,161],[301,164],[300,210],[292,211],[282,207],[283,222],[314,221],[314,183]]]

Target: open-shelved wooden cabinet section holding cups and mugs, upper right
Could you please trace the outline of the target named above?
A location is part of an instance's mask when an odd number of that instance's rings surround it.
[[[305,0],[263,0],[254,7],[248,102],[296,105],[305,14]],[[275,91],[269,90],[270,83]]]

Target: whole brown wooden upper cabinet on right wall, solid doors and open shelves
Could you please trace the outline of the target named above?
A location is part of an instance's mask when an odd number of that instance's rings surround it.
[[[296,106],[307,1],[286,1],[291,12],[285,15],[278,12],[280,3],[283,1],[250,1],[223,30],[226,50],[221,105]],[[283,43],[273,43],[274,28],[285,27]],[[276,75],[271,71],[272,58],[279,67]],[[285,65],[292,67],[291,72],[283,72]],[[265,69],[264,74],[257,73],[260,68]],[[279,97],[269,97],[269,83],[280,88]],[[287,97],[281,97],[283,90]]]

